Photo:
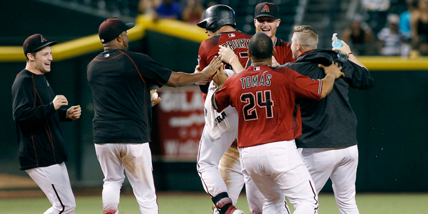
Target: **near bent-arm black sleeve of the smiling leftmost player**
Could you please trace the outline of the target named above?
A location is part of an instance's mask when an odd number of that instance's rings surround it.
[[[52,102],[35,106],[35,91],[26,86],[25,82],[12,86],[13,119],[17,124],[32,124],[56,112]]]

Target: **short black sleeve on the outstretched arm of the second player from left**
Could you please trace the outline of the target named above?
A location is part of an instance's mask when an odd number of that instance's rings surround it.
[[[154,61],[148,55],[139,55],[137,59],[137,68],[139,75],[148,85],[157,85],[162,87],[166,84],[171,76],[171,69],[165,68],[161,64]]]

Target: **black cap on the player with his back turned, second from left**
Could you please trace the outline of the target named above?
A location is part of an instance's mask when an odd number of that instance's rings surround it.
[[[107,19],[99,25],[98,35],[101,43],[108,43],[116,39],[122,32],[133,28],[135,23],[124,23],[117,17]]]

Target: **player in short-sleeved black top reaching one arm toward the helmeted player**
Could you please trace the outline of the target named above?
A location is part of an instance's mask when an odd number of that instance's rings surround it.
[[[152,120],[150,86],[186,86],[215,74],[222,66],[214,57],[202,72],[173,72],[147,55],[128,51],[127,30],[134,23],[110,18],[99,26],[104,46],[88,64],[93,94],[95,151],[104,174],[104,214],[118,213],[119,194],[126,175],[133,186],[140,213],[157,214],[157,197],[148,142]],[[153,93],[153,92],[152,92]]]

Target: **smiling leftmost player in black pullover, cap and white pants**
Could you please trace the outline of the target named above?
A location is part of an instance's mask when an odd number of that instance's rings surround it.
[[[41,188],[52,204],[45,214],[75,213],[76,202],[66,168],[64,133],[59,121],[79,119],[80,106],[68,110],[64,95],[55,95],[44,75],[50,72],[56,41],[32,35],[23,42],[26,68],[12,85],[13,119],[17,124],[19,168]]]

